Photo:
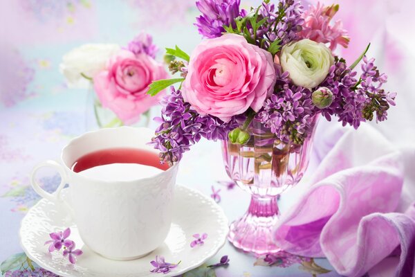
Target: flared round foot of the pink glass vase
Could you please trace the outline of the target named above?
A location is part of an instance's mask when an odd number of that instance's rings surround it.
[[[258,217],[246,213],[230,224],[228,240],[234,247],[257,255],[277,253],[282,251],[273,239],[273,226],[277,221],[276,215]]]

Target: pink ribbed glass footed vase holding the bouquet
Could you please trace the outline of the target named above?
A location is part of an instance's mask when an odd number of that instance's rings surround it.
[[[248,211],[230,225],[228,240],[235,247],[259,255],[281,250],[272,234],[279,217],[277,199],[302,179],[317,120],[318,115],[313,118],[313,132],[302,145],[282,143],[255,120],[248,129],[251,136],[245,145],[223,141],[226,172],[251,194]]]

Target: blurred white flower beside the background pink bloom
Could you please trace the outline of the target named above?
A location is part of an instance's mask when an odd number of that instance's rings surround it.
[[[120,46],[117,44],[84,44],[64,55],[59,70],[64,74],[68,87],[86,88],[89,81],[81,73],[93,78],[105,69],[109,58],[118,51]]]

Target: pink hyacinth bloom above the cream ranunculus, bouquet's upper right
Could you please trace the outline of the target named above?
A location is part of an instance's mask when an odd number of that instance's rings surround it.
[[[329,43],[331,51],[338,44],[346,48],[350,39],[347,30],[342,28],[342,22],[338,20],[333,25],[330,24],[338,9],[338,5],[324,6],[320,2],[317,6],[311,6],[304,12],[305,22],[299,36],[315,42]]]

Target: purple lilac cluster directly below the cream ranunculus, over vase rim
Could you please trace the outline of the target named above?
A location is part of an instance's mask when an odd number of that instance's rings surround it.
[[[302,144],[314,127],[317,109],[311,100],[311,90],[297,87],[288,80],[288,72],[277,66],[276,91],[255,116],[284,143]]]

